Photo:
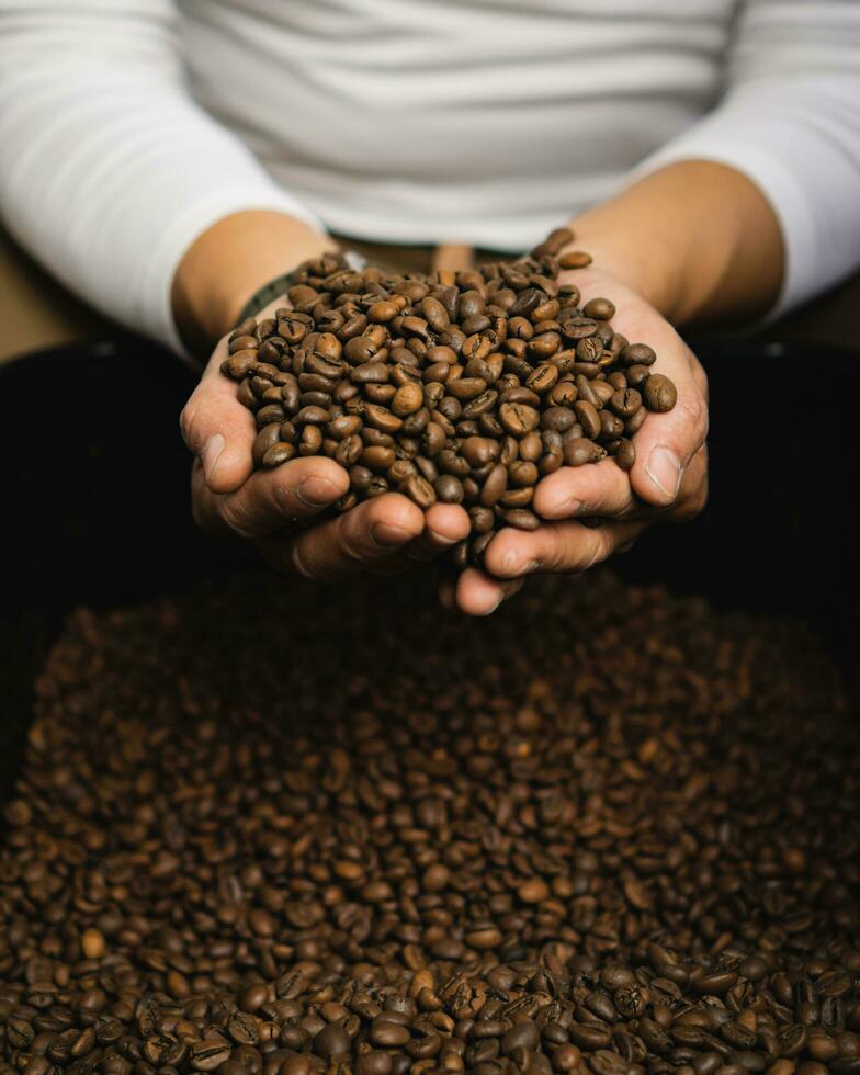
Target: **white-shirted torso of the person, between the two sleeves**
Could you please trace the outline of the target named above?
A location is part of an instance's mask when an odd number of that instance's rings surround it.
[[[180,0],[200,103],[333,230],[520,249],[718,101],[737,0]]]

